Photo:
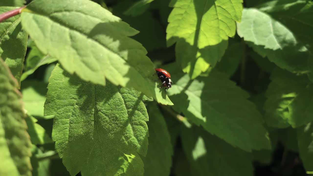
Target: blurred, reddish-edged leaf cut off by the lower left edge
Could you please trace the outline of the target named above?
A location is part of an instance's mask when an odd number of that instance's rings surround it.
[[[0,175],[30,176],[31,142],[18,82],[0,58]]]

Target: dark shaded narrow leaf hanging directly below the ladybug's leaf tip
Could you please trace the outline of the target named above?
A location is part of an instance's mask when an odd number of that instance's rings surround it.
[[[173,148],[167,125],[158,106],[150,105],[148,108],[149,122],[149,148],[145,158],[146,176],[170,175],[172,165]]]

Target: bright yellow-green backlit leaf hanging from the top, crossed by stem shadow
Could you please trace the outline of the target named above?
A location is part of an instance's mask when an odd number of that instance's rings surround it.
[[[176,59],[194,79],[221,60],[241,20],[242,0],[172,0],[170,6],[167,45],[177,43]]]

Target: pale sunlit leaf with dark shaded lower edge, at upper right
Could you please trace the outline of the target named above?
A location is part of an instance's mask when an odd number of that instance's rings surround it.
[[[311,55],[306,46],[293,31],[268,14],[259,9],[244,9],[237,32],[257,53],[267,56],[280,68],[308,72]]]

